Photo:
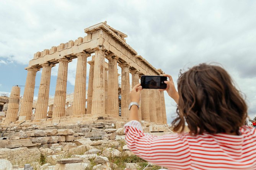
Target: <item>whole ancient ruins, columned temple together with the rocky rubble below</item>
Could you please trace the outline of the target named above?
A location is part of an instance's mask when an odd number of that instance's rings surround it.
[[[126,43],[127,35],[106,22],[86,28],[85,33],[85,37],[34,54],[25,68],[22,98],[19,86],[12,87],[10,98],[0,96],[0,169],[142,170],[148,164],[130,152],[124,140],[129,92],[141,75],[163,71],[137,55]],[[75,58],[75,89],[67,91],[68,63]],[[51,70],[57,63],[55,95],[49,96]],[[33,100],[40,69],[38,99]],[[166,123],[164,101],[163,91],[142,90],[139,119],[143,132],[173,133]],[[151,168],[156,165],[147,169]]]

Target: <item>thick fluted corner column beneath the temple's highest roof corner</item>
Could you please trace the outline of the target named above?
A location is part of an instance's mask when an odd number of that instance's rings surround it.
[[[100,48],[95,48],[92,114],[105,114],[105,52]]]

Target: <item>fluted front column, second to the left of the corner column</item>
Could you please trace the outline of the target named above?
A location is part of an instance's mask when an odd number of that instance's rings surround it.
[[[67,95],[67,75],[68,63],[72,60],[67,58],[58,59],[59,69],[55,88],[52,117],[62,117],[65,115],[65,103]]]

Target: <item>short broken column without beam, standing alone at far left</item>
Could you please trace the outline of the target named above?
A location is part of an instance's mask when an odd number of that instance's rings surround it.
[[[16,122],[20,106],[20,87],[13,86],[6,112],[5,123]]]

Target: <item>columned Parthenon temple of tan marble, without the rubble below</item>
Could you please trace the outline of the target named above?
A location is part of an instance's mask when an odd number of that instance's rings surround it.
[[[127,120],[129,110],[129,92],[140,82],[141,75],[161,75],[156,69],[126,43],[127,35],[101,22],[84,29],[85,37],[60,43],[57,47],[45,49],[34,54],[29,61],[23,102],[19,116],[16,105],[10,99],[5,123],[39,122],[49,119],[52,122],[65,116],[68,63],[77,58],[75,88],[73,93],[72,114],[78,119],[90,116],[112,117]],[[87,62],[87,58],[91,61]],[[107,59],[107,63],[105,60]],[[59,63],[54,102],[49,105],[49,87],[51,69]],[[86,64],[90,64],[88,87],[86,87]],[[119,95],[118,71],[121,67],[121,95]],[[38,99],[34,119],[31,120],[36,73],[42,69]],[[132,82],[130,82],[130,75]],[[14,94],[20,93],[14,87]],[[86,90],[86,88],[88,90]],[[16,91],[16,92],[15,92]],[[86,99],[87,95],[87,99]],[[16,95],[17,96],[17,95]],[[14,97],[15,98],[15,97]],[[121,99],[121,106],[119,100]],[[166,124],[166,110],[163,91],[142,90],[139,119],[148,122]],[[11,110],[10,107],[13,107]],[[120,114],[121,111],[121,114]]]

